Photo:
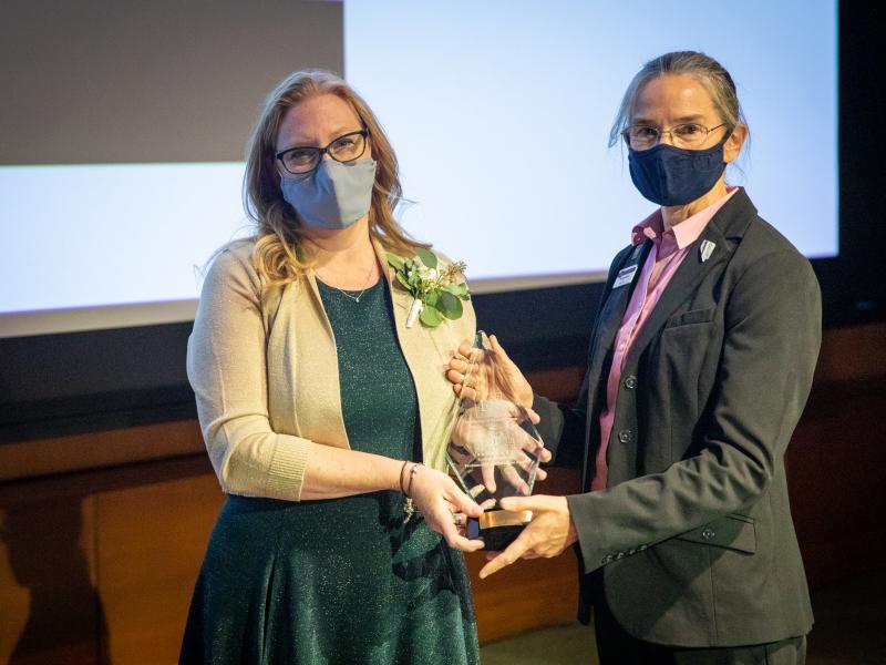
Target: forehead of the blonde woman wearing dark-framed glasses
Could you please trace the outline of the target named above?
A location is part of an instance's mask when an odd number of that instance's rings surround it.
[[[351,104],[331,93],[317,94],[299,102],[285,114],[278,133],[282,142],[326,142],[342,132],[359,130],[360,117]]]

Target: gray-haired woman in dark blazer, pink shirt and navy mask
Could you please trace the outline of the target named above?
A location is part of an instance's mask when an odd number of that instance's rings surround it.
[[[624,140],[658,207],[609,269],[578,401],[522,381],[555,461],[581,464],[581,492],[503,500],[533,521],[481,577],[577,543],[580,618],[593,607],[604,665],[805,659],[812,612],[784,454],[812,386],[821,296],[808,260],[725,183],[746,137],[712,58],[666,53],[640,70],[611,143]],[[461,386],[463,358],[450,367],[456,392],[483,390]]]

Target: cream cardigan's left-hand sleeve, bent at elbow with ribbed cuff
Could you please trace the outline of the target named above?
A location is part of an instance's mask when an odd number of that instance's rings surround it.
[[[268,418],[267,331],[251,244],[209,267],[188,339],[187,376],[222,489],[298,501],[310,441],[275,432]]]

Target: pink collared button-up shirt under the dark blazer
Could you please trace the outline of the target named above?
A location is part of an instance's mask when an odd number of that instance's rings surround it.
[[[661,297],[664,287],[668,286],[677,268],[683,263],[689,245],[699,238],[711,217],[738,190],[738,187],[730,187],[729,194],[720,201],[712,203],[691,217],[687,217],[677,226],[664,228],[664,221],[659,208],[633,227],[633,244],[639,245],[645,238],[651,238],[652,248],[643,263],[637,287],[631,294],[630,303],[621,319],[621,327],[616,335],[612,365],[606,381],[606,407],[600,412],[600,448],[597,450],[596,472],[590,483],[591,490],[606,489],[609,471],[606,464],[606,451],[609,449],[609,439],[612,434],[616,398],[621,383],[621,372],[625,369],[625,357]],[[624,288],[627,288],[627,285]]]

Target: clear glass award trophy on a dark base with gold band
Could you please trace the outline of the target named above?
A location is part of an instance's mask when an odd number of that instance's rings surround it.
[[[456,482],[484,509],[478,519],[468,518],[467,538],[498,551],[532,520],[530,511],[502,510],[498,502],[532,493],[544,443],[482,330],[467,361],[465,376],[473,377],[474,389],[462,391],[446,461]]]

